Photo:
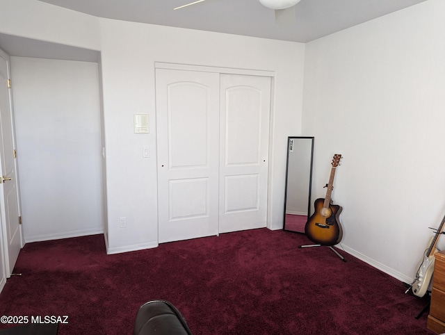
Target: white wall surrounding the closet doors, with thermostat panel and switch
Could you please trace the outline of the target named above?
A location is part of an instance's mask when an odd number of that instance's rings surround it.
[[[0,0],[0,8],[0,33],[101,51],[108,252],[157,245],[154,62],[275,72],[268,227],[282,228],[286,138],[301,130],[304,44],[97,19],[36,0]],[[149,114],[148,135],[133,133],[134,113]]]

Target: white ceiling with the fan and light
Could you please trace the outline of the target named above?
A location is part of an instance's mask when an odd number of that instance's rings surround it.
[[[426,0],[302,0],[296,22],[275,24],[274,10],[258,0],[39,0],[82,13],[124,21],[202,31],[309,42]]]

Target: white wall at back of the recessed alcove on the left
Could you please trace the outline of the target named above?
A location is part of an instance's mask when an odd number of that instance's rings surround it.
[[[97,63],[11,57],[26,242],[104,232]]]

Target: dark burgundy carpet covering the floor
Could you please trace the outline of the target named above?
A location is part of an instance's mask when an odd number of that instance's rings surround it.
[[[169,300],[193,334],[432,334],[426,300],[302,234],[256,229],[106,255],[104,236],[27,244],[0,316],[68,316],[58,334],[131,334],[148,300]],[[12,325],[0,325],[0,329]]]

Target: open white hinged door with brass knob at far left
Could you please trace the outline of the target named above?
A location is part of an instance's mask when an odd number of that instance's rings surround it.
[[[10,277],[22,247],[17,197],[13,120],[8,92],[8,63],[0,56],[0,121],[1,121],[1,176],[0,211],[3,245],[5,246],[6,275]]]

